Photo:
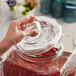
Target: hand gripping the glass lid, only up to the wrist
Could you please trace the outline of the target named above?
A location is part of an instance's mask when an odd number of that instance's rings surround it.
[[[11,45],[17,44],[25,36],[35,36],[37,35],[36,30],[24,31],[28,26],[24,26],[28,23],[32,23],[35,20],[35,17],[30,16],[27,18],[22,18],[19,20],[14,20],[10,23],[8,32],[6,34],[5,40],[10,42]]]

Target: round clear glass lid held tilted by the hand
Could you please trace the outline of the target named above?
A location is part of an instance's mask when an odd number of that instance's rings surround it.
[[[61,38],[62,28],[55,19],[36,17],[26,30],[36,29],[35,37],[27,36],[17,45],[16,50],[27,55],[39,55],[51,49]],[[25,30],[25,31],[26,31]]]

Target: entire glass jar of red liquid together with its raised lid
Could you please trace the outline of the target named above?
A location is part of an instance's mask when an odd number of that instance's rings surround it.
[[[37,29],[38,35],[31,39],[37,42],[41,38],[40,45],[39,41],[36,46],[33,45],[34,42],[25,37],[28,43],[22,40],[2,63],[4,76],[60,76],[61,68],[75,48],[74,41],[61,33],[56,20],[41,16],[36,21],[39,21],[42,28],[40,24],[34,26],[35,23],[27,30]],[[41,43],[45,43],[46,47],[44,44],[41,46]]]

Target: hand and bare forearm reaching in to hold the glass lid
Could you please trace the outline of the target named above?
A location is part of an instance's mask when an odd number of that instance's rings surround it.
[[[20,42],[25,36],[36,36],[37,31],[29,30],[24,31],[30,25],[24,26],[28,23],[32,23],[35,17],[30,16],[19,20],[10,22],[8,32],[5,38],[0,42],[0,56],[2,56],[10,47]]]

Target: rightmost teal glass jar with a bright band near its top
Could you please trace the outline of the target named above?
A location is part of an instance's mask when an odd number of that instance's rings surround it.
[[[76,1],[66,0],[64,4],[63,20],[68,23],[76,21]]]

